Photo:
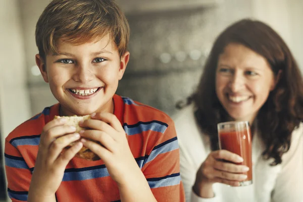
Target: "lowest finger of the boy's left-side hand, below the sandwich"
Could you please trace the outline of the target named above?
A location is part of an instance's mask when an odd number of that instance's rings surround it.
[[[81,150],[83,144],[78,142],[77,144],[73,145],[71,148],[64,151],[64,153],[56,160],[56,164],[58,167],[66,167],[68,162],[74,158],[74,156]]]

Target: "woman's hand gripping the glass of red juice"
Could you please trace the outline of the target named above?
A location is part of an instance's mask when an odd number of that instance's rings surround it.
[[[209,154],[196,173],[194,192],[205,198],[214,197],[212,185],[216,182],[239,186],[239,181],[247,178],[243,174],[249,170],[247,166],[237,165],[243,159],[227,150],[217,150]]]

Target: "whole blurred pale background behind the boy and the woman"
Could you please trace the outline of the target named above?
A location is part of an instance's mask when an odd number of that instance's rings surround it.
[[[4,141],[57,102],[35,65],[35,24],[50,0],[0,0],[0,201]],[[195,89],[215,37],[242,18],[262,20],[284,38],[302,69],[301,0],[117,0],[130,28],[130,62],[118,94],[169,115]]]

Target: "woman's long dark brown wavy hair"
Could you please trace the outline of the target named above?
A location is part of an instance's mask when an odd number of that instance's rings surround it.
[[[228,114],[215,92],[215,74],[219,55],[230,43],[242,44],[265,57],[275,76],[280,72],[275,89],[256,118],[266,147],[263,157],[273,158],[271,165],[280,164],[283,153],[289,150],[292,131],[303,119],[303,83],[289,48],[271,27],[249,19],[227,27],[216,39],[198,88],[188,101],[193,101],[197,107],[197,122],[211,137],[212,150],[217,150],[217,123],[226,121]]]

